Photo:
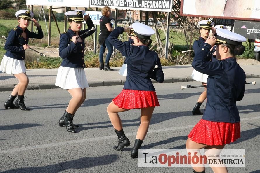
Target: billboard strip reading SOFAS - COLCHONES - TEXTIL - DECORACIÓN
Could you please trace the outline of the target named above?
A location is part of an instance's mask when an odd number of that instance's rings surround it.
[[[172,0],[90,0],[90,7],[171,12]]]

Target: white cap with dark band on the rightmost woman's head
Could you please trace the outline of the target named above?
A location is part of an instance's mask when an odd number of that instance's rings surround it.
[[[242,42],[247,41],[245,37],[235,32],[231,32],[227,29],[218,28],[216,29],[217,42],[216,44],[226,43],[232,45],[240,45]]]

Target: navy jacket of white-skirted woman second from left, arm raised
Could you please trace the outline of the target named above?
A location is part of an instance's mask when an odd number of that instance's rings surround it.
[[[88,25],[88,29],[79,31],[79,35],[94,27],[94,24],[90,18],[86,21],[86,23]],[[76,33],[72,29],[68,29],[67,32],[61,34],[59,55],[63,60],[60,66],[71,68],[85,68],[86,65],[84,62],[84,39],[92,35],[94,32],[95,30],[90,31],[87,34],[84,34],[83,36],[81,36],[82,42],[77,41],[76,44],[72,41],[72,37],[76,35]]]

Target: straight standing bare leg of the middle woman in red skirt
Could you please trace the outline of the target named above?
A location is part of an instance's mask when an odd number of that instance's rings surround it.
[[[138,128],[136,139],[144,140],[150,125],[154,107],[141,108],[141,123]]]

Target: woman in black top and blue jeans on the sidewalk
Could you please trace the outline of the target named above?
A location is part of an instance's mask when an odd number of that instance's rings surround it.
[[[112,24],[110,23],[111,19],[109,18],[110,14],[111,14],[111,8],[109,8],[108,6],[105,6],[101,12],[102,12],[103,16],[99,20],[99,26],[100,26],[100,33],[99,33],[99,37],[98,37],[98,42],[100,44],[99,69],[113,71],[113,69],[110,69],[110,67],[109,67],[109,60],[113,53],[113,46],[107,39],[110,32],[112,32],[114,30],[114,28],[112,28]],[[104,52],[105,52],[106,48],[108,48],[108,54],[106,56],[105,66],[104,66],[103,56],[104,56]]]

